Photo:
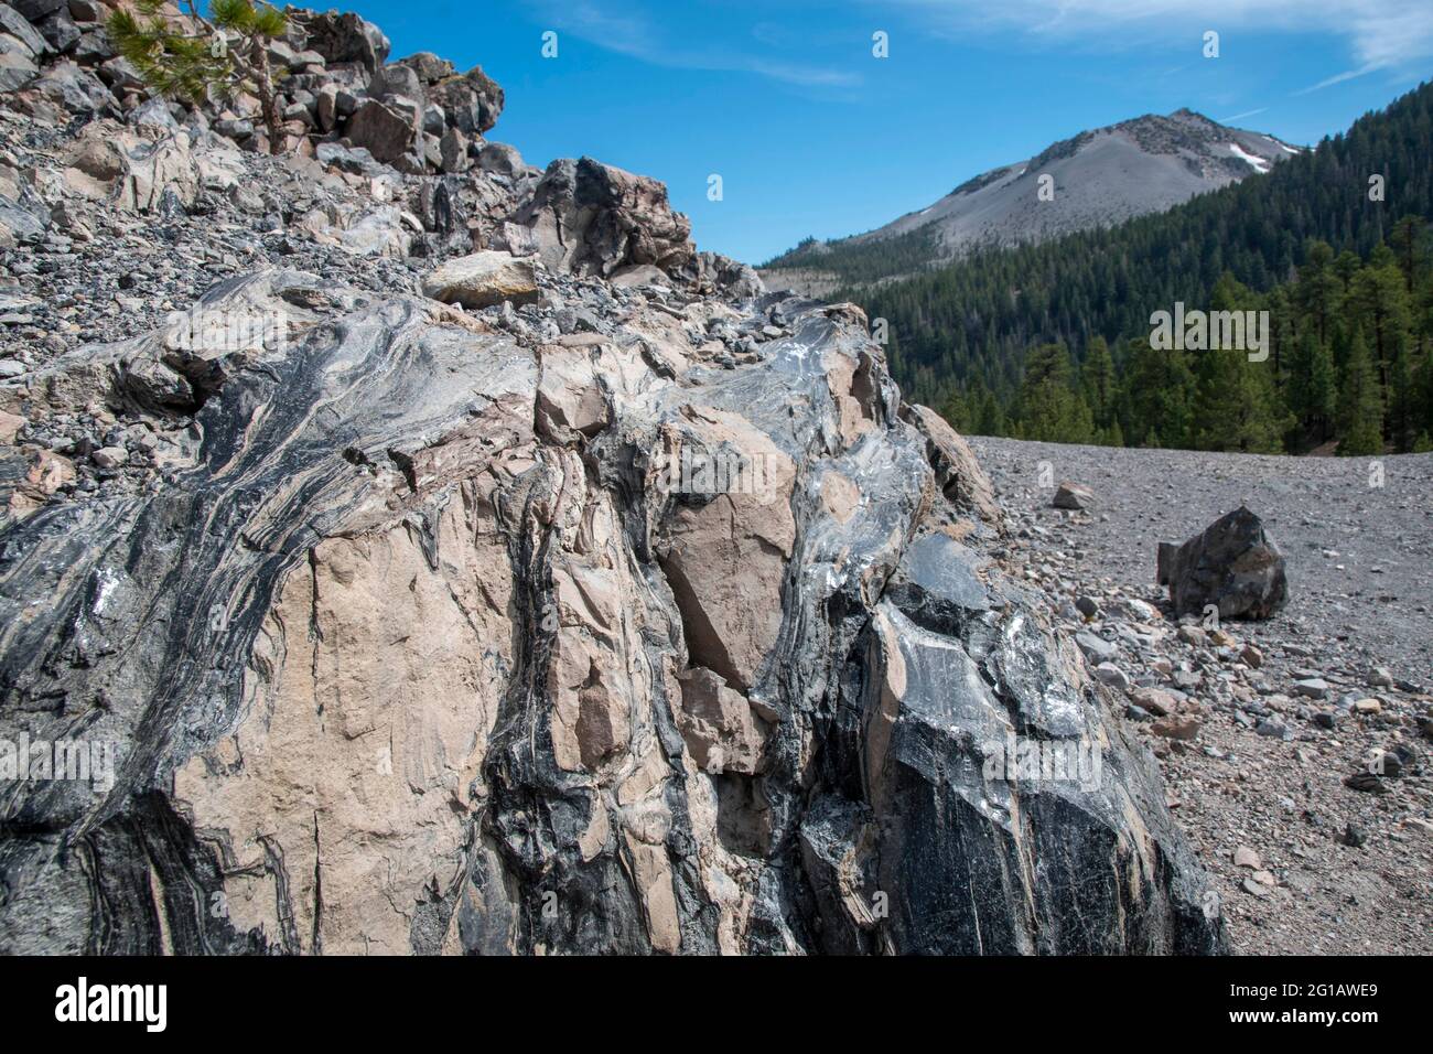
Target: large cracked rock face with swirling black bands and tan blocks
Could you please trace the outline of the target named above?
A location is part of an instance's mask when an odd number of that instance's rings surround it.
[[[282,338],[32,380],[193,426],[145,488],[0,531],[0,740],[113,759],[0,779],[0,949],[1222,948],[858,311],[535,277],[545,307],[471,315],[235,277],[202,307]]]

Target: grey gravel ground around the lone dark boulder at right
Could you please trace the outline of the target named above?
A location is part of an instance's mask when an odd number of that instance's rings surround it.
[[[1433,456],[970,443],[1016,528],[1012,569],[1050,594],[1070,632],[1119,648],[1131,695],[1182,688],[1199,710],[1191,740],[1164,737],[1139,707],[1128,720],[1159,757],[1235,948],[1433,954]],[[1063,480],[1093,489],[1088,513],[1050,508]],[[1155,585],[1156,543],[1182,542],[1241,502],[1285,554],[1288,607],[1267,622],[1227,622],[1232,647],[1184,641]],[[1079,597],[1098,601],[1096,618],[1075,609]],[[1129,599],[1164,605],[1162,617],[1142,625],[1125,614]],[[1294,687],[1310,675],[1326,694]],[[1344,783],[1394,749],[1401,771],[1373,790]],[[1254,855],[1235,863],[1237,849]]]

